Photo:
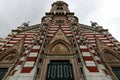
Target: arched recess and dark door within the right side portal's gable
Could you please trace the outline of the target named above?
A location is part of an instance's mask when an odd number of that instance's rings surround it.
[[[108,69],[113,75],[114,79],[120,80],[120,60],[118,59],[116,53],[111,53],[110,51],[105,51],[104,59],[105,63],[107,63]],[[119,56],[119,55],[118,55]],[[110,69],[111,68],[111,69]]]

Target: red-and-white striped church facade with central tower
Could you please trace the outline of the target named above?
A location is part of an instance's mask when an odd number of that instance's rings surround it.
[[[0,42],[0,80],[120,80],[120,43],[56,1],[40,24],[23,23]]]

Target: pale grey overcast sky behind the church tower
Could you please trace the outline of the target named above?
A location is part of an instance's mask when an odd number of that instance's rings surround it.
[[[0,0],[0,37],[23,22],[38,24],[57,0]],[[95,21],[120,41],[120,0],[63,0],[82,24]]]

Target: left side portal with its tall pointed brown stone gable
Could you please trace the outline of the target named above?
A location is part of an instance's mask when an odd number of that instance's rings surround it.
[[[23,44],[24,39],[18,41],[12,47],[4,51],[0,56],[0,72],[4,71],[4,73],[1,74],[3,76],[0,76],[0,79],[2,78],[5,80],[5,78],[10,74],[14,65],[18,61],[19,56],[23,52]]]

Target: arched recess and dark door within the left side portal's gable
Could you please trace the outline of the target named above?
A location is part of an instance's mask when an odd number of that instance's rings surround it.
[[[0,80],[5,80],[8,74],[11,72],[13,65],[18,58],[17,50],[11,50],[8,53],[5,53],[0,59]]]

